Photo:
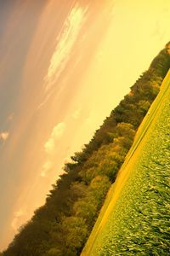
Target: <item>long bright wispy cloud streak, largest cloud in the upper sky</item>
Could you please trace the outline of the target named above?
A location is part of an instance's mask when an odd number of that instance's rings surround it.
[[[64,71],[65,65],[70,59],[71,49],[77,41],[78,34],[85,20],[87,9],[82,9],[78,4],[71,9],[65,20],[62,31],[57,38],[54,54],[48,67],[48,74],[44,78],[45,88],[49,90]]]

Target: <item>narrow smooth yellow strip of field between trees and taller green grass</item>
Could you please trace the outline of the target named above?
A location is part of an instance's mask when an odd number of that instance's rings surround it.
[[[88,238],[88,242],[84,249],[82,250],[82,256],[90,256],[91,251],[94,247],[95,241],[98,239],[98,235],[100,230],[102,230],[107,222],[107,218],[113,211],[116,201],[118,197],[121,195],[122,188],[127,181],[127,178],[130,177],[130,174],[133,172],[133,165],[138,160],[140,149],[143,147],[145,143],[145,135],[150,128],[150,125],[156,119],[157,113],[160,111],[161,103],[163,102],[164,96],[167,94],[167,90],[169,89],[169,81],[170,81],[170,70],[167,73],[166,78],[163,80],[161,84],[161,90],[156,97],[156,100],[150,106],[150,109],[142,124],[139,126],[139,130],[136,133],[133,146],[130,148],[126,160],[122,165],[117,177],[116,182],[111,186],[111,189],[108,192],[108,195],[105,199],[105,204],[99,213],[99,218],[94,225],[94,230]]]

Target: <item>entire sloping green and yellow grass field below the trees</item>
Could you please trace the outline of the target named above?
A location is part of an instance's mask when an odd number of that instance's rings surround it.
[[[170,255],[170,71],[81,255]]]

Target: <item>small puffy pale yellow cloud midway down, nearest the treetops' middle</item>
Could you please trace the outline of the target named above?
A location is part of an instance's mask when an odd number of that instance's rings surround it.
[[[63,136],[65,131],[65,123],[59,123],[54,126],[54,130],[51,133],[51,136],[48,138],[48,141],[44,144],[45,151],[48,154],[52,154],[54,152],[54,148],[56,146],[57,140]]]

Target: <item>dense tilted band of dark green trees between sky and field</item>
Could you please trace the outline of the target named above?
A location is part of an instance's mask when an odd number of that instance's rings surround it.
[[[19,230],[3,256],[75,256],[93,229],[108,189],[170,67],[168,43],[106,118],[82,152],[71,157],[44,206]]]

